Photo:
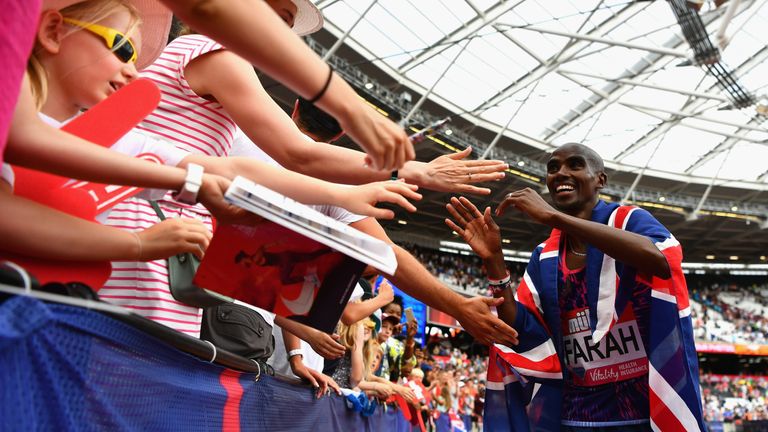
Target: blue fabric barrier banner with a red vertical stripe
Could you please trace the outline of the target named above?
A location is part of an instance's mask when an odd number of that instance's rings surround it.
[[[30,297],[0,304],[3,431],[410,431],[339,396],[237,372],[106,315]]]

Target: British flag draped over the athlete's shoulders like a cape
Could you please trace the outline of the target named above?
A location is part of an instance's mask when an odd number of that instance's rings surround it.
[[[648,384],[650,425],[656,431],[706,431],[699,391],[688,289],[681,268],[682,248],[647,211],[599,201],[592,221],[649,238],[664,254],[671,277],[650,280],[596,248],[587,248],[587,303],[592,339],[598,343],[617,322],[640,278],[651,287]],[[491,349],[485,430],[558,431],[564,367],[561,364],[557,301],[561,233],[531,255],[517,290],[514,323],[520,343]],[[566,370],[567,373],[567,370]]]

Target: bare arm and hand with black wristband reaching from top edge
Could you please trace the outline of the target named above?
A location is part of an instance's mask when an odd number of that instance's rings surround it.
[[[162,0],[184,22],[239,53],[306,99],[328,78],[328,65],[260,0]],[[244,38],[248,34],[250,37]],[[221,80],[226,81],[226,80]],[[405,131],[375,112],[334,75],[317,105],[336,117],[367,153],[368,165],[390,171],[414,158]],[[344,168],[346,169],[346,167]]]

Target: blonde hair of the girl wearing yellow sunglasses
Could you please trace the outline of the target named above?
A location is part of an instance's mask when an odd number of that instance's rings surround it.
[[[82,1],[61,9],[59,13],[65,18],[72,18],[87,23],[98,23],[120,10],[120,8],[127,10],[131,16],[128,29],[125,31],[125,37],[130,39],[131,36],[138,31],[138,28],[141,25],[141,16],[139,15],[139,11],[127,0]],[[70,27],[71,30],[68,31],[64,37],[82,30],[81,27]],[[125,42],[126,41],[123,41],[123,43]],[[120,46],[118,45],[112,49],[115,50],[119,47]],[[29,74],[32,86],[32,96],[35,99],[35,104],[38,110],[40,110],[48,97],[48,73],[38,57],[40,49],[40,45],[35,43],[35,48],[32,50],[32,54],[29,56],[29,61],[27,62],[27,73]]]

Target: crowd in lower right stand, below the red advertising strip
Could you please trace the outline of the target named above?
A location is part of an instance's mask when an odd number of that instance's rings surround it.
[[[768,420],[768,377],[701,375],[707,421]]]

